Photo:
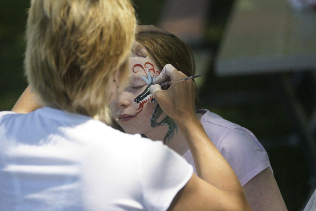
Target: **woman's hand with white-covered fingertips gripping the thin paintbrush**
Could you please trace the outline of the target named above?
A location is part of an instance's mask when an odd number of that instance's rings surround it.
[[[167,90],[162,90],[159,84],[167,79],[174,81],[185,77],[187,76],[181,71],[167,64],[154,81],[154,85],[149,87],[150,93],[159,103],[161,109],[177,124],[195,118],[195,84],[192,80],[186,80],[172,84]]]

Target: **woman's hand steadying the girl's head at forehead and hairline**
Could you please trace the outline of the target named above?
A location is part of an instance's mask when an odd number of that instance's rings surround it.
[[[137,25],[136,26],[136,34],[141,34],[145,32],[156,32],[160,34],[171,35],[171,33],[161,28],[155,27],[154,25]],[[146,48],[137,41],[133,42],[132,51],[136,53],[138,56],[146,56],[148,53]]]

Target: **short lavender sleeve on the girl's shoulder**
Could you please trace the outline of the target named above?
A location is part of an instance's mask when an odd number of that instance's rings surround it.
[[[268,154],[256,137],[241,129],[230,130],[222,139],[219,150],[241,186],[270,166]]]

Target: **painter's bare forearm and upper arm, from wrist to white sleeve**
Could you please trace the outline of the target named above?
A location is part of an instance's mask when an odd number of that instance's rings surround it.
[[[201,178],[193,174],[169,210],[251,210],[234,171],[199,124],[193,119],[178,124],[197,154],[193,158]]]

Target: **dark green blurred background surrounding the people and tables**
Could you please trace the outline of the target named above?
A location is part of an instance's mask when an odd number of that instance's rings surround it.
[[[156,25],[165,1],[134,0],[140,24]],[[307,165],[304,146],[295,131],[276,86],[277,74],[218,78],[214,58],[222,39],[234,0],[213,0],[208,9],[203,44],[192,45],[194,52],[211,51],[198,83],[199,108],[206,108],[229,121],[251,130],[266,148],[276,181],[289,210],[300,210],[310,194],[315,179]],[[24,29],[27,0],[0,1],[0,110],[10,110],[27,87],[23,73]],[[199,65],[199,64],[197,64]],[[296,95],[311,112],[309,73],[301,73]],[[0,196],[1,197],[1,196]]]

